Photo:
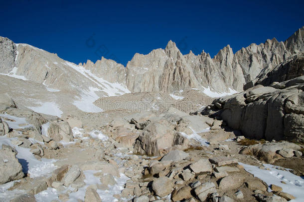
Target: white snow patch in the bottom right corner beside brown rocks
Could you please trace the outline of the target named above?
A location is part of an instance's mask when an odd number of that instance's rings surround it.
[[[274,166],[271,164],[263,164],[266,169],[259,169],[256,166],[251,166],[243,163],[239,163],[244,167],[244,169],[253,174],[255,177],[263,180],[268,186],[271,184],[277,185],[283,189],[283,192],[293,195],[296,197],[295,200],[290,202],[303,202],[304,199],[304,179],[300,176],[296,176],[289,171],[282,171],[278,168],[279,166]],[[284,181],[286,184],[281,183]],[[268,188],[271,192],[271,189]]]

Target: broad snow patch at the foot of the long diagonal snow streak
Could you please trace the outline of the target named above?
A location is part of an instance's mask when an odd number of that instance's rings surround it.
[[[93,104],[99,98],[95,91],[99,91],[99,89],[89,87],[89,91],[82,90],[80,97],[76,97],[77,100],[73,102],[73,105],[84,112],[102,112],[101,108]]]

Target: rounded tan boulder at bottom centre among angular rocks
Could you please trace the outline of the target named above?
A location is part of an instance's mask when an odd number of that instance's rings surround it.
[[[172,192],[173,183],[167,177],[160,177],[153,181],[152,190],[158,197],[165,197]]]

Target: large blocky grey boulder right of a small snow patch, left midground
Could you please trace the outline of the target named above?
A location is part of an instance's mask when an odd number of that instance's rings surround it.
[[[48,127],[47,134],[54,141],[70,142],[73,140],[73,132],[70,125],[65,121],[53,121]]]

